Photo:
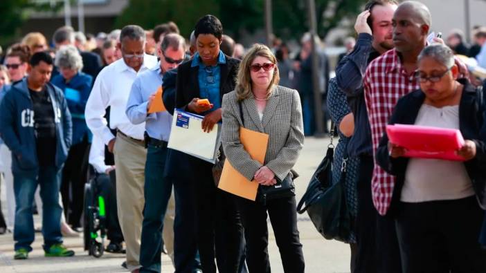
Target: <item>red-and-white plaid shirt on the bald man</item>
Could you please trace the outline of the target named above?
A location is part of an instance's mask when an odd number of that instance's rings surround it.
[[[364,77],[366,109],[370,119],[373,155],[386,124],[400,97],[420,88],[417,78],[406,73],[395,49],[388,50],[370,63]],[[372,198],[379,214],[385,215],[390,207],[395,176],[386,173],[375,160],[371,182]]]

